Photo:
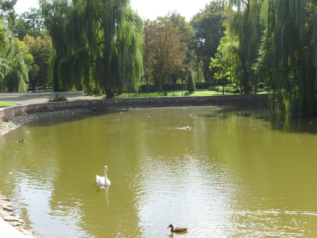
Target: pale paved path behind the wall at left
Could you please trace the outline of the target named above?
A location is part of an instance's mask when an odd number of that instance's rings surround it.
[[[83,91],[79,92],[63,92],[63,93],[46,93],[46,95],[41,95],[37,93],[25,93],[25,94],[10,94],[2,93],[0,94],[0,102],[9,102],[14,104],[36,104],[47,102],[50,98],[54,98],[55,94],[60,96],[65,96],[68,101],[78,101],[78,100],[96,100],[100,97],[85,96]],[[21,96],[16,96],[21,95]],[[34,96],[36,95],[36,96]]]

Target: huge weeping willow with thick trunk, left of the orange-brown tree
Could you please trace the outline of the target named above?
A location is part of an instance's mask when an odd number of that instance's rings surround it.
[[[137,90],[143,71],[143,23],[127,0],[42,0],[54,55],[54,90]]]

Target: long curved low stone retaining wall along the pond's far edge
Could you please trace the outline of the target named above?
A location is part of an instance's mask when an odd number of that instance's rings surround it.
[[[0,108],[0,122],[24,114],[51,112],[66,109],[102,110],[111,107],[173,107],[219,105],[230,103],[267,103],[268,94],[216,95],[216,96],[174,96],[174,97],[138,97],[119,99],[99,99],[70,102],[47,102],[43,104],[18,105]]]

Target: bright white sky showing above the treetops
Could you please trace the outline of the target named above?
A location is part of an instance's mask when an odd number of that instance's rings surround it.
[[[167,15],[168,11],[177,10],[180,15],[190,21],[191,17],[204,9],[210,0],[130,0],[131,6],[137,10],[141,18],[156,19],[158,16]],[[37,0],[18,0],[15,6],[16,13],[28,11],[30,7],[38,8]]]

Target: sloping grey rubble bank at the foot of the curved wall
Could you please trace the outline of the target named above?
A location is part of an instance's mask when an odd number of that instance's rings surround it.
[[[60,110],[60,111],[52,111],[52,112],[38,112],[34,114],[25,114],[23,116],[18,116],[12,119],[7,120],[6,122],[0,123],[0,135],[15,129],[23,124],[32,122],[34,120],[38,120],[43,117],[48,116],[63,116],[68,114],[76,114],[83,112],[91,112],[90,109],[68,109],[68,110]]]

